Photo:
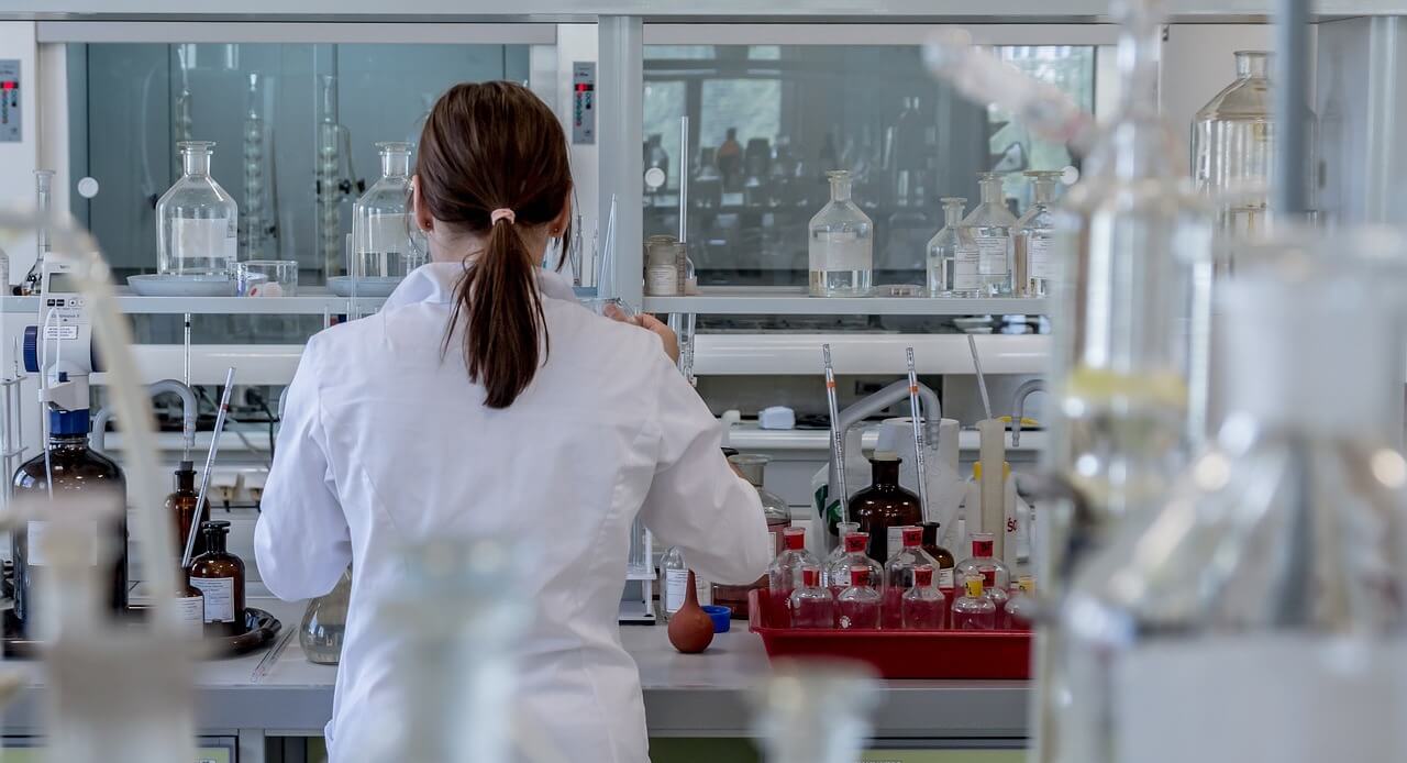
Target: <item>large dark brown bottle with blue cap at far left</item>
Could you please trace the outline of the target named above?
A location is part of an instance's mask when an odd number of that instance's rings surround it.
[[[27,460],[14,473],[14,494],[35,494],[48,497],[49,479],[53,474],[53,493],[84,493],[94,494],[106,491],[115,503],[125,503],[127,484],[122,470],[87,446],[89,412],[80,411],[49,411],[49,469],[45,470],[44,453]],[[44,560],[38,548],[31,546],[31,536],[35,539],[46,528],[44,521],[31,521],[24,531],[10,534],[10,553],[14,559],[14,617],[20,624],[21,635],[34,638],[37,633],[28,631],[28,624],[35,619],[34,594],[38,591],[37,577],[42,574]],[[108,569],[107,603],[117,612],[127,611],[127,511],[107,526],[100,541],[113,548],[117,559]]]

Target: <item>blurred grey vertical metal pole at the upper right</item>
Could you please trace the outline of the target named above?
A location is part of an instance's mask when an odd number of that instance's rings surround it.
[[[1309,211],[1309,0],[1275,3],[1275,189],[1271,210],[1292,217]]]

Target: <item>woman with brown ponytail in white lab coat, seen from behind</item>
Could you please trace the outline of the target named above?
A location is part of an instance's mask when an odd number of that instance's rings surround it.
[[[561,760],[647,760],[616,626],[630,524],[702,576],[746,583],[771,557],[758,497],[675,370],[668,328],[597,317],[537,267],[550,238],[571,238],[567,141],[546,104],[504,82],[450,89],[412,183],[432,262],[378,314],[308,341],[255,532],[280,598],[325,594],[352,565],[332,762],[397,712],[404,645],[373,619],[397,549],[485,536],[539,549],[522,565],[535,618],[515,655],[518,722]]]

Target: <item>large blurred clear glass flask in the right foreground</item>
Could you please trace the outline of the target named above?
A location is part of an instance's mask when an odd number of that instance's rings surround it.
[[[1061,726],[1067,759],[1224,760],[1155,733],[1131,707],[1189,693],[1244,700],[1244,726],[1186,719],[1227,749],[1275,726],[1290,750],[1400,755],[1372,746],[1400,722],[1400,700],[1368,697],[1407,646],[1407,460],[1390,445],[1401,434],[1404,251],[1380,231],[1278,229],[1248,249],[1261,262],[1218,286],[1225,422],[1159,508],[1081,567],[1061,607],[1061,657],[1081,700]],[[1292,687],[1365,700],[1327,725],[1316,711],[1316,724],[1286,726],[1300,712]]]

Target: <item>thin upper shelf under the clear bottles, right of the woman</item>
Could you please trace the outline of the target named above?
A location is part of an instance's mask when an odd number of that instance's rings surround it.
[[[646,313],[698,315],[1044,315],[1045,298],[809,297],[802,287],[704,286],[696,296],[644,297]]]

